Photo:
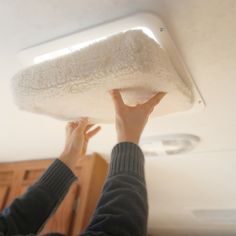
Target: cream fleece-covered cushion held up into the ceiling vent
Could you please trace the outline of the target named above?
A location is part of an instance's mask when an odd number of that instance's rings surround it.
[[[108,90],[118,88],[125,103],[142,103],[168,92],[152,116],[192,106],[192,92],[166,52],[141,30],[110,36],[79,51],[33,65],[12,79],[16,104],[24,110],[73,120],[113,122]]]

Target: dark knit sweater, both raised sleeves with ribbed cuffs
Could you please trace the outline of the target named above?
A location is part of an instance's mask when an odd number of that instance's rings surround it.
[[[1,213],[0,236],[39,233],[75,180],[73,172],[56,159]],[[81,236],[146,236],[147,216],[143,152],[134,143],[118,143],[97,207]]]

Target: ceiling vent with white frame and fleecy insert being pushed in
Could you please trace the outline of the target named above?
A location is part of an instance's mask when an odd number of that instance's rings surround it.
[[[128,105],[167,92],[152,116],[203,106],[166,28],[149,13],[26,49],[19,56],[24,69],[12,79],[13,94],[18,107],[30,112],[113,122],[107,91],[114,88]]]

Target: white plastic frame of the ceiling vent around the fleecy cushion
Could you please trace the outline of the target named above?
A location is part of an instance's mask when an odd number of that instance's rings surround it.
[[[135,28],[147,28],[152,31],[160,46],[168,53],[179,76],[192,87],[194,101],[191,110],[202,110],[205,107],[205,103],[191,77],[191,74],[173,43],[167,28],[157,15],[149,12],[137,13],[126,18],[92,27],[69,36],[25,49],[21,51],[18,56],[23,67],[27,67],[33,65],[34,58],[40,55],[68,48],[72,45],[85,44],[89,41],[106,38],[119,32]]]

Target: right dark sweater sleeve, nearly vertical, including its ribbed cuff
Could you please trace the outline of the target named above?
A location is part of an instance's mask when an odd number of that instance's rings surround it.
[[[91,223],[81,236],[146,236],[148,203],[144,155],[138,145],[117,144]]]

